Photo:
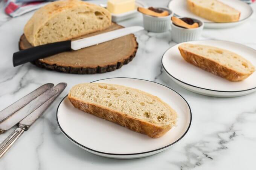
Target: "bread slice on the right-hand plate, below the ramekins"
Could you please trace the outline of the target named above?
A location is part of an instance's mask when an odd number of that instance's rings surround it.
[[[187,62],[229,81],[244,80],[255,71],[248,60],[228,50],[188,43],[178,48]]]

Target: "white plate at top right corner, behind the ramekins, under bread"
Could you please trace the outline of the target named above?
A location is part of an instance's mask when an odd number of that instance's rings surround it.
[[[198,17],[187,9],[186,0],[171,0],[168,4],[169,9],[174,11],[174,14],[178,17],[191,17],[197,18],[204,21],[205,28],[228,28],[239,25],[246,21],[252,14],[253,9],[250,5],[241,0],[219,0],[241,12],[239,21],[229,22],[229,23],[215,23],[213,21],[206,20],[204,18]]]

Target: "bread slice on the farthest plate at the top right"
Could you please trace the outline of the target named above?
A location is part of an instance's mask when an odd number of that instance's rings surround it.
[[[241,14],[218,0],[187,0],[187,7],[195,15],[217,23],[238,21]]]

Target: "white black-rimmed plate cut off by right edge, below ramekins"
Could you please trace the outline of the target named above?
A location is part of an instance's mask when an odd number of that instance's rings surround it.
[[[210,45],[233,51],[256,66],[256,50],[229,41],[202,40],[183,43]],[[180,44],[183,44],[180,43]],[[180,55],[178,46],[169,48],[162,57],[165,72],[181,87],[195,93],[216,97],[235,97],[256,91],[256,72],[243,81],[232,82],[187,63]]]

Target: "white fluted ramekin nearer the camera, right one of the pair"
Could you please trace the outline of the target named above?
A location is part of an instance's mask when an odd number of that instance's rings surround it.
[[[176,43],[181,43],[185,41],[194,41],[198,40],[201,36],[201,33],[203,31],[204,23],[200,20],[197,20],[195,18],[191,18],[194,22],[197,22],[199,27],[194,28],[194,29],[185,29],[182,27],[175,26],[171,22],[171,36],[172,36],[172,41]]]

